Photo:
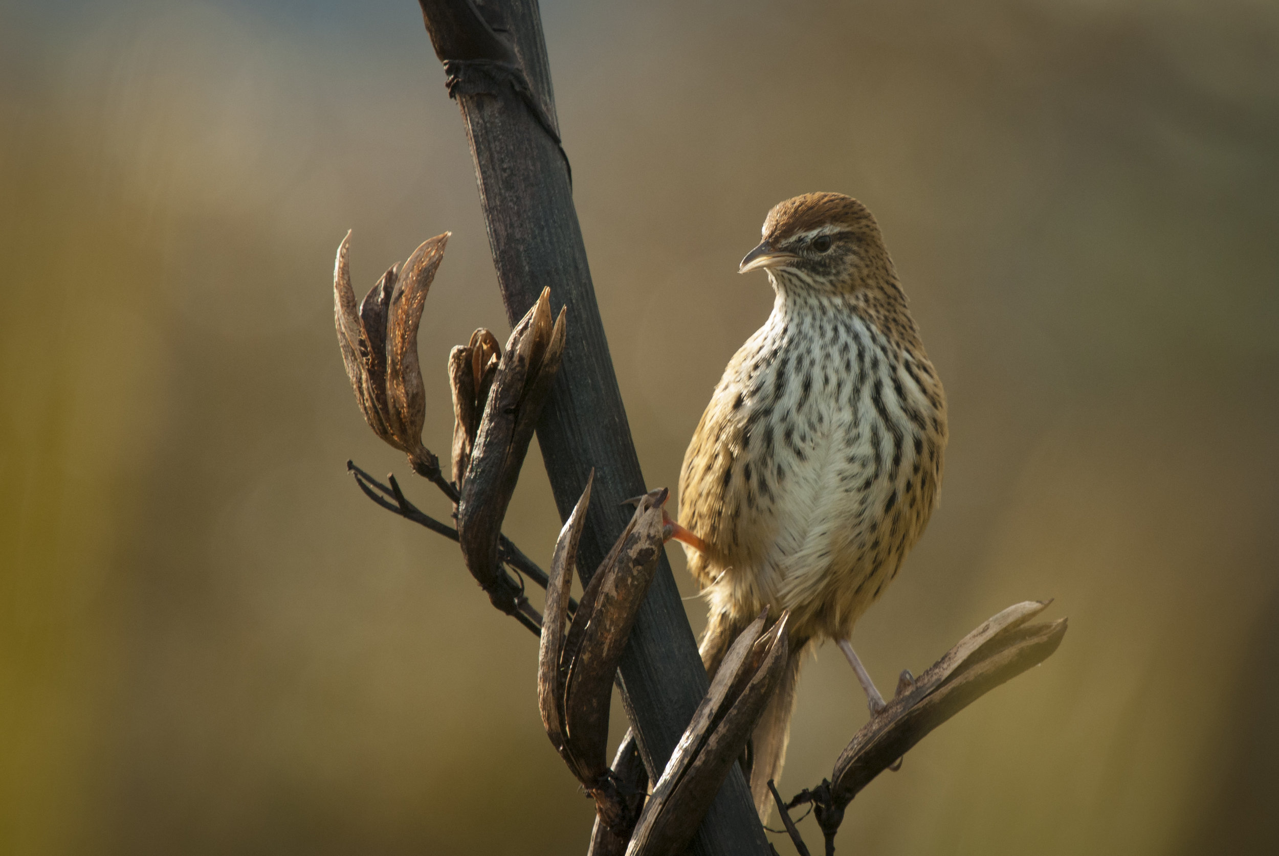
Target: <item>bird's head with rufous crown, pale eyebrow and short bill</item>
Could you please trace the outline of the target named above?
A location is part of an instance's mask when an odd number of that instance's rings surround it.
[[[848,293],[895,279],[875,217],[842,193],[806,193],[779,202],[762,233],[739,273],[762,268],[778,287]]]

